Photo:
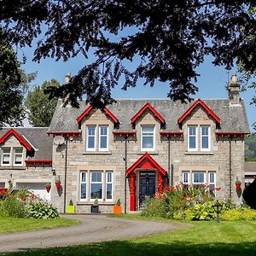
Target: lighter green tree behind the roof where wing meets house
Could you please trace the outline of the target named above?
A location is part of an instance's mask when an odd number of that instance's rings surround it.
[[[55,79],[45,81],[41,86],[35,86],[32,91],[28,91],[26,97],[26,108],[28,109],[29,123],[33,126],[47,127],[50,124],[58,99],[56,97],[49,100],[49,95],[44,90],[49,87],[58,88],[59,82]]]

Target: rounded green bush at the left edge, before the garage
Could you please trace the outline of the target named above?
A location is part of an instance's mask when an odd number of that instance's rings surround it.
[[[7,195],[0,202],[0,216],[3,218],[26,218],[26,205],[14,195]]]

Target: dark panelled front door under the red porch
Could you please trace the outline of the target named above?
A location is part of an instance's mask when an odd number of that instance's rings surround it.
[[[140,172],[140,206],[146,196],[155,194],[155,172]]]

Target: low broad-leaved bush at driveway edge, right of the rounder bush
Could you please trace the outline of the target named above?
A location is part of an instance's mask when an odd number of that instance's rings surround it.
[[[59,218],[60,213],[56,207],[42,201],[31,202],[28,206],[28,218]]]

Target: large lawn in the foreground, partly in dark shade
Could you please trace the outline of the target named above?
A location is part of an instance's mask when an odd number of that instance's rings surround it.
[[[132,240],[98,242],[5,255],[256,255],[256,221],[219,224],[209,221],[189,224],[189,229]]]

